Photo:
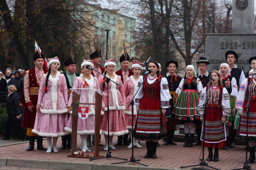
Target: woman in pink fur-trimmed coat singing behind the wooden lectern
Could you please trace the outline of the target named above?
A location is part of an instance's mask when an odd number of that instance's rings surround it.
[[[82,74],[74,79],[73,88],[89,88],[89,89],[100,89],[98,85],[97,78],[92,76],[91,70],[86,68],[90,66],[93,68],[93,63],[91,60],[84,60],[81,64]],[[85,92],[86,93],[86,92]],[[68,111],[72,113],[71,106],[73,101],[73,90],[70,93],[70,98],[68,100]],[[80,94],[81,103],[95,103],[94,94]],[[86,145],[86,139],[88,135],[94,135],[95,133],[95,105],[80,105],[82,107],[89,107],[89,115],[86,119],[78,119],[77,134],[80,135],[82,141],[82,151],[91,152]],[[104,104],[102,103],[102,106]],[[104,108],[103,108],[104,109]],[[103,115],[103,112],[102,112]],[[64,128],[65,131],[72,133],[72,116],[69,117],[68,124]],[[100,131],[101,134],[101,131]]]

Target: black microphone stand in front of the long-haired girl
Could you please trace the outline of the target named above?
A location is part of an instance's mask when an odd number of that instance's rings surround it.
[[[209,94],[209,90],[210,90],[210,86],[211,86],[211,80],[212,80],[212,77],[210,76],[210,79],[209,79],[209,86],[208,86],[208,90],[207,90],[207,93],[206,93],[206,100],[204,102],[204,128],[203,128],[203,137],[205,137],[205,118],[206,118],[206,102],[207,102],[207,97],[208,97],[208,94]],[[205,139],[205,138],[204,138]],[[202,159],[200,164],[196,164],[196,165],[189,165],[189,166],[180,166],[180,168],[187,168],[187,167],[191,167],[191,166],[207,166],[209,168],[212,168],[212,169],[216,169],[216,170],[220,170],[220,169],[217,169],[217,168],[214,168],[212,166],[209,166],[208,163],[205,162],[204,160],[204,143],[205,143],[205,140],[203,140],[203,147],[202,147],[202,150],[203,150],[203,155],[202,155]],[[205,170],[204,168],[192,168],[194,170],[198,170],[198,169],[203,169]]]

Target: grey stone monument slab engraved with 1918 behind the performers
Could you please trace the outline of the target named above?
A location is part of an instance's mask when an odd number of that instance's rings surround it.
[[[208,65],[208,71],[219,70],[221,63],[227,63],[225,53],[229,50],[236,51],[238,61],[235,64],[247,72],[250,70],[248,60],[256,56],[256,34],[206,34],[205,57],[211,63]]]

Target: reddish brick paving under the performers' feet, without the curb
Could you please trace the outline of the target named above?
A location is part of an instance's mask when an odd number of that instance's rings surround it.
[[[102,135],[102,144],[105,144],[104,136]],[[117,137],[114,137],[113,141],[116,142]],[[140,159],[141,163],[147,164],[150,167],[168,167],[168,168],[180,168],[180,166],[193,165],[199,163],[200,153],[202,151],[202,147],[191,147],[185,148],[183,147],[183,143],[178,143],[178,145],[168,145],[164,146],[163,142],[160,141],[160,147],[157,148],[157,159],[145,159],[144,155],[146,154],[146,144],[145,142],[141,142],[142,148],[134,149],[134,156],[136,159]],[[46,140],[43,142],[44,146],[47,147]],[[80,138],[78,137],[78,144],[80,145]],[[35,145],[36,146],[36,145]],[[59,137],[57,142],[57,147],[61,146],[61,138]],[[52,161],[65,161],[65,162],[90,162],[95,164],[110,164],[112,162],[119,162],[120,160],[114,158],[104,158],[100,160],[90,161],[89,159],[84,158],[69,158],[67,155],[70,154],[70,150],[60,150],[57,153],[49,153],[47,154],[45,151],[34,150],[27,152],[26,148],[28,147],[28,143],[21,143],[18,145],[11,145],[0,147],[0,158],[21,158],[21,159],[34,159],[34,160],[52,160]],[[79,146],[78,146],[79,148]],[[90,148],[93,150],[93,147]],[[112,156],[127,158],[130,159],[131,149],[126,149],[126,146],[118,146],[116,150],[112,151]],[[100,155],[106,156],[107,151],[103,150],[103,147],[100,147]],[[249,153],[248,153],[249,154]],[[208,162],[210,166],[220,168],[222,170],[228,170],[233,168],[241,168],[244,164],[245,160],[245,150],[244,146],[236,146],[235,148],[228,148],[228,150],[220,150],[219,152],[219,161],[218,162]],[[205,160],[208,156],[208,150],[206,148],[205,151]],[[206,161],[207,162],[207,161]],[[124,165],[130,166],[140,166],[135,163],[125,163]],[[252,169],[256,169],[256,163],[250,164]],[[1,167],[0,169],[4,169],[7,167]],[[17,169],[9,167],[8,169]],[[20,168],[24,169],[24,168]],[[25,168],[28,169],[28,168]],[[154,168],[152,168],[154,169]],[[32,170],[32,169],[31,169]]]

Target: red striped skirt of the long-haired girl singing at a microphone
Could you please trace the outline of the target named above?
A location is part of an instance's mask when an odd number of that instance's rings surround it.
[[[206,108],[205,138],[203,136],[204,123],[202,123],[201,141],[205,139],[204,146],[223,148],[226,146],[224,123],[221,123],[222,107]]]

